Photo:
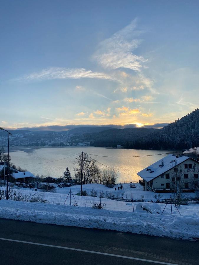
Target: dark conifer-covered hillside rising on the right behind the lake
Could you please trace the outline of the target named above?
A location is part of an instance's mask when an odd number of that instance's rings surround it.
[[[84,140],[94,146],[133,149],[188,149],[199,145],[199,109],[162,129],[132,128],[85,134]]]

